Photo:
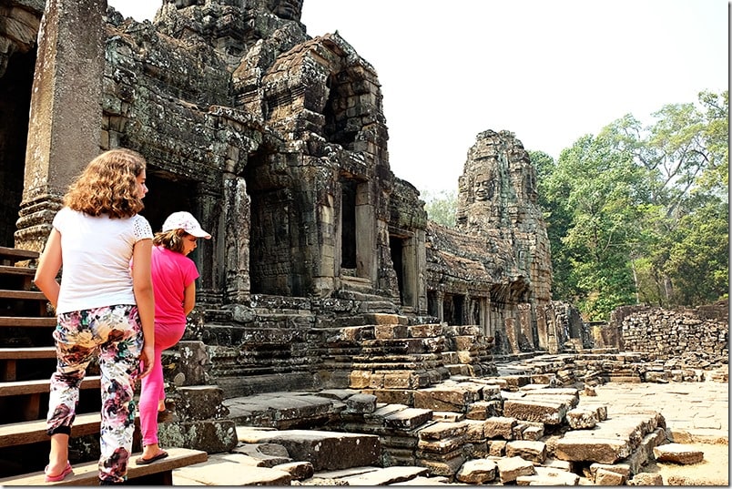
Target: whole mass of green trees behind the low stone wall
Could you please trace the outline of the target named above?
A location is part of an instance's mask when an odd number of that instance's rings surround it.
[[[646,302],[727,297],[728,92],[627,115],[566,148],[532,152],[552,245],[554,298],[585,318]]]

